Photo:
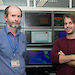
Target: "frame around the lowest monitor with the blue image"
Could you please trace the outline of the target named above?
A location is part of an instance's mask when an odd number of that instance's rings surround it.
[[[28,52],[32,52],[32,51],[50,51],[51,52],[52,48],[28,48],[26,51],[26,65],[27,66],[38,66],[38,67],[48,67],[49,65],[52,65],[52,63],[49,64],[29,64],[29,56],[28,56]]]

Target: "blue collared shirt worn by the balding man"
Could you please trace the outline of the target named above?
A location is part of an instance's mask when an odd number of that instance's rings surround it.
[[[11,60],[14,59],[14,52],[10,46],[8,36],[11,39],[13,48],[18,42],[15,58],[20,61],[20,67],[12,67]],[[6,27],[0,30],[0,75],[26,75],[25,72],[25,50],[26,38],[19,30],[14,37],[10,30]]]

